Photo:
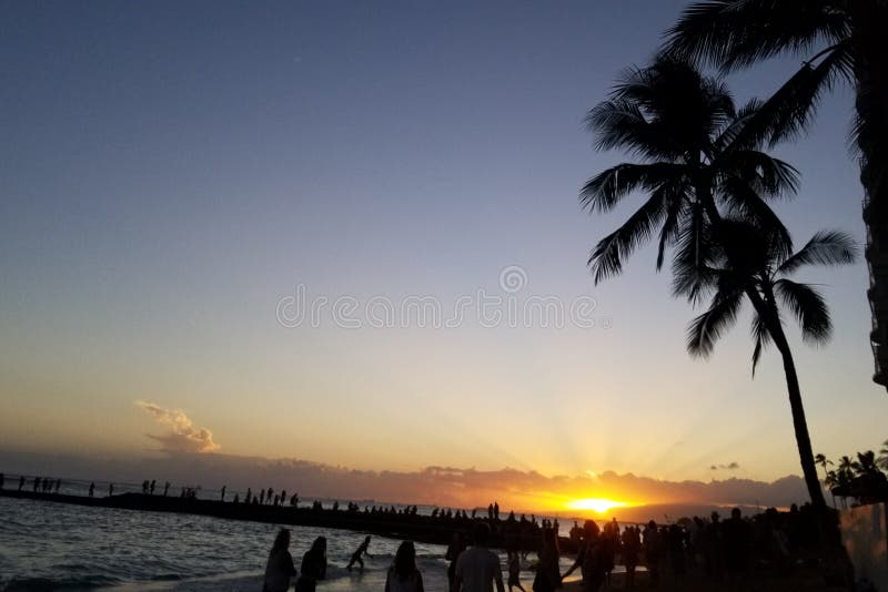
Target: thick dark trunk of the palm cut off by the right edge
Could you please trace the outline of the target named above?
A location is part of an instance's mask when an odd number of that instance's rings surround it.
[[[864,223],[867,227],[866,258],[872,313],[872,379],[888,387],[888,30],[886,2],[849,2],[857,83],[857,145],[860,149],[860,182],[864,185]]]

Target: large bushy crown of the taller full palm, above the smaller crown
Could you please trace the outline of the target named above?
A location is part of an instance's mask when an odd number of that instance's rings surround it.
[[[619,274],[623,262],[655,233],[657,271],[672,247],[676,259],[702,264],[719,207],[775,228],[789,252],[789,234],[765,198],[791,195],[798,177],[791,165],[758,150],[755,135],[747,133],[758,106],[751,101],[738,110],[718,79],[664,57],[623,74],[586,122],[598,150],[622,149],[637,162],[592,177],[581,202],[592,213],[604,213],[635,192],[647,200],[593,249],[588,263],[596,283]],[[684,279],[693,299],[696,279]]]

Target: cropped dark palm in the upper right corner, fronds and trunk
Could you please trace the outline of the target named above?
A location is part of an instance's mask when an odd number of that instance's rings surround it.
[[[765,105],[770,136],[804,130],[838,81],[855,89],[851,134],[865,190],[874,380],[888,386],[888,2],[885,0],[706,0],[686,8],[667,33],[673,55],[734,70],[779,53],[809,57]]]

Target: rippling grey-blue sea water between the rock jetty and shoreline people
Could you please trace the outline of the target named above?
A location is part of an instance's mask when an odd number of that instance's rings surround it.
[[[0,498],[0,590],[260,591],[280,527],[202,516]],[[382,591],[401,541],[374,535],[365,569],[345,570],[363,534],[286,527],[296,568],[312,541],[327,539],[319,590]],[[447,586],[446,549],[416,543],[425,589]],[[533,557],[533,555],[532,555]],[[501,554],[505,573],[505,557]],[[564,561],[567,561],[566,559]],[[565,568],[563,567],[562,571]],[[531,590],[533,572],[522,573]]]

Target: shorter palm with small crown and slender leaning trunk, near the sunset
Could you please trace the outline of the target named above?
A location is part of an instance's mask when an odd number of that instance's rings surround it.
[[[825,506],[817,477],[810,436],[805,420],[801,390],[793,353],[783,329],[781,309],[787,309],[801,326],[803,340],[823,344],[831,334],[826,300],[809,284],[789,279],[808,265],[854,263],[854,241],[838,232],[819,232],[797,253],[785,256],[773,232],[747,222],[725,220],[719,244],[714,249],[704,289],[712,294],[708,309],[696,317],[687,333],[687,349],[693,356],[708,357],[715,343],[737,319],[743,303],[751,302],[753,374],[761,351],[774,344],[783,358],[789,406],[796,430],[796,445],[811,502]]]

